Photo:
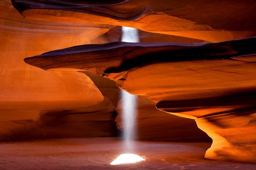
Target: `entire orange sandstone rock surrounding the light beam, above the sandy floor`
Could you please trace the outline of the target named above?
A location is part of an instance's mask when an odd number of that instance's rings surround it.
[[[119,89],[89,70],[141,95],[140,139],[205,140],[195,120],[213,140],[205,158],[256,163],[255,8],[252,0],[1,1],[0,140],[114,136]],[[112,42],[120,26],[140,29],[141,42]]]

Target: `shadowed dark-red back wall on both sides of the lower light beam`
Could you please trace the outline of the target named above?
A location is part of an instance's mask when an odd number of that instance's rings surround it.
[[[101,93],[112,101],[118,115],[115,119],[117,129],[122,131],[122,98],[120,89],[115,82],[91,71],[81,71],[86,74],[99,88]],[[168,141],[211,141],[192,119],[164,113],[155,107],[155,102],[146,96],[137,96],[137,140],[168,140]]]

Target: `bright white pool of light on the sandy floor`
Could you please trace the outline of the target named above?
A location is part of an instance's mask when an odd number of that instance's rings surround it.
[[[140,157],[139,155],[135,154],[122,154],[119,155],[113,162],[111,162],[111,165],[119,165],[124,163],[136,163],[140,161],[144,161],[145,159]]]

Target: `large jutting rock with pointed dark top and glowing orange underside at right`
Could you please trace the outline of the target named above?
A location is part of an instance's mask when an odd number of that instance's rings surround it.
[[[81,45],[25,61],[43,69],[94,70],[147,95],[159,110],[196,119],[213,139],[206,158],[255,163],[255,40]]]

